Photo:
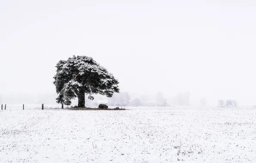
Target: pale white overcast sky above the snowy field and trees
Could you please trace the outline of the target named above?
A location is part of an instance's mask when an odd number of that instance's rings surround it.
[[[93,57],[122,91],[256,104],[255,0],[1,0],[0,94],[55,92]]]

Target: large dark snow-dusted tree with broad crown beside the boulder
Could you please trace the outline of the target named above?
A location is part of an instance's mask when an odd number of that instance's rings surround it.
[[[57,103],[70,105],[78,98],[78,107],[85,107],[85,94],[94,100],[93,94],[112,97],[119,92],[119,82],[92,57],[73,56],[60,60],[57,65],[53,84],[58,94]]]

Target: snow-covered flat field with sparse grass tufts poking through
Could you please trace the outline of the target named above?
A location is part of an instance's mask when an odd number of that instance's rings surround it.
[[[256,163],[256,109],[0,111],[0,163]]]

